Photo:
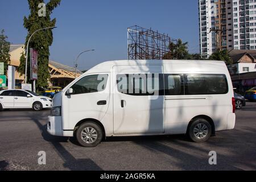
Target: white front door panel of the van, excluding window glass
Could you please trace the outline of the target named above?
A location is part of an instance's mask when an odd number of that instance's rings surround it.
[[[63,130],[73,130],[78,122],[86,118],[92,118],[101,121],[101,119],[104,117],[109,107],[110,74],[101,74],[108,75],[106,88],[101,92],[74,94],[68,96],[65,94],[66,91],[64,90],[62,98],[63,107],[61,108]],[[83,75],[80,77],[80,79],[90,75],[98,75],[98,73]],[[98,101],[106,101],[106,104],[97,105]]]

